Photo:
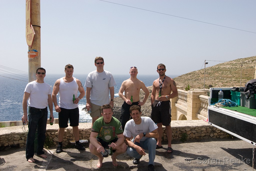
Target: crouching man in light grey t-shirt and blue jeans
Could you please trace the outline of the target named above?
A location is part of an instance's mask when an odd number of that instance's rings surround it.
[[[138,164],[142,155],[146,155],[145,150],[148,150],[148,170],[154,171],[155,139],[159,137],[157,126],[150,117],[141,117],[140,106],[131,106],[130,115],[132,119],[125,124],[124,128],[125,143],[128,146],[126,152],[134,157],[133,164]]]

